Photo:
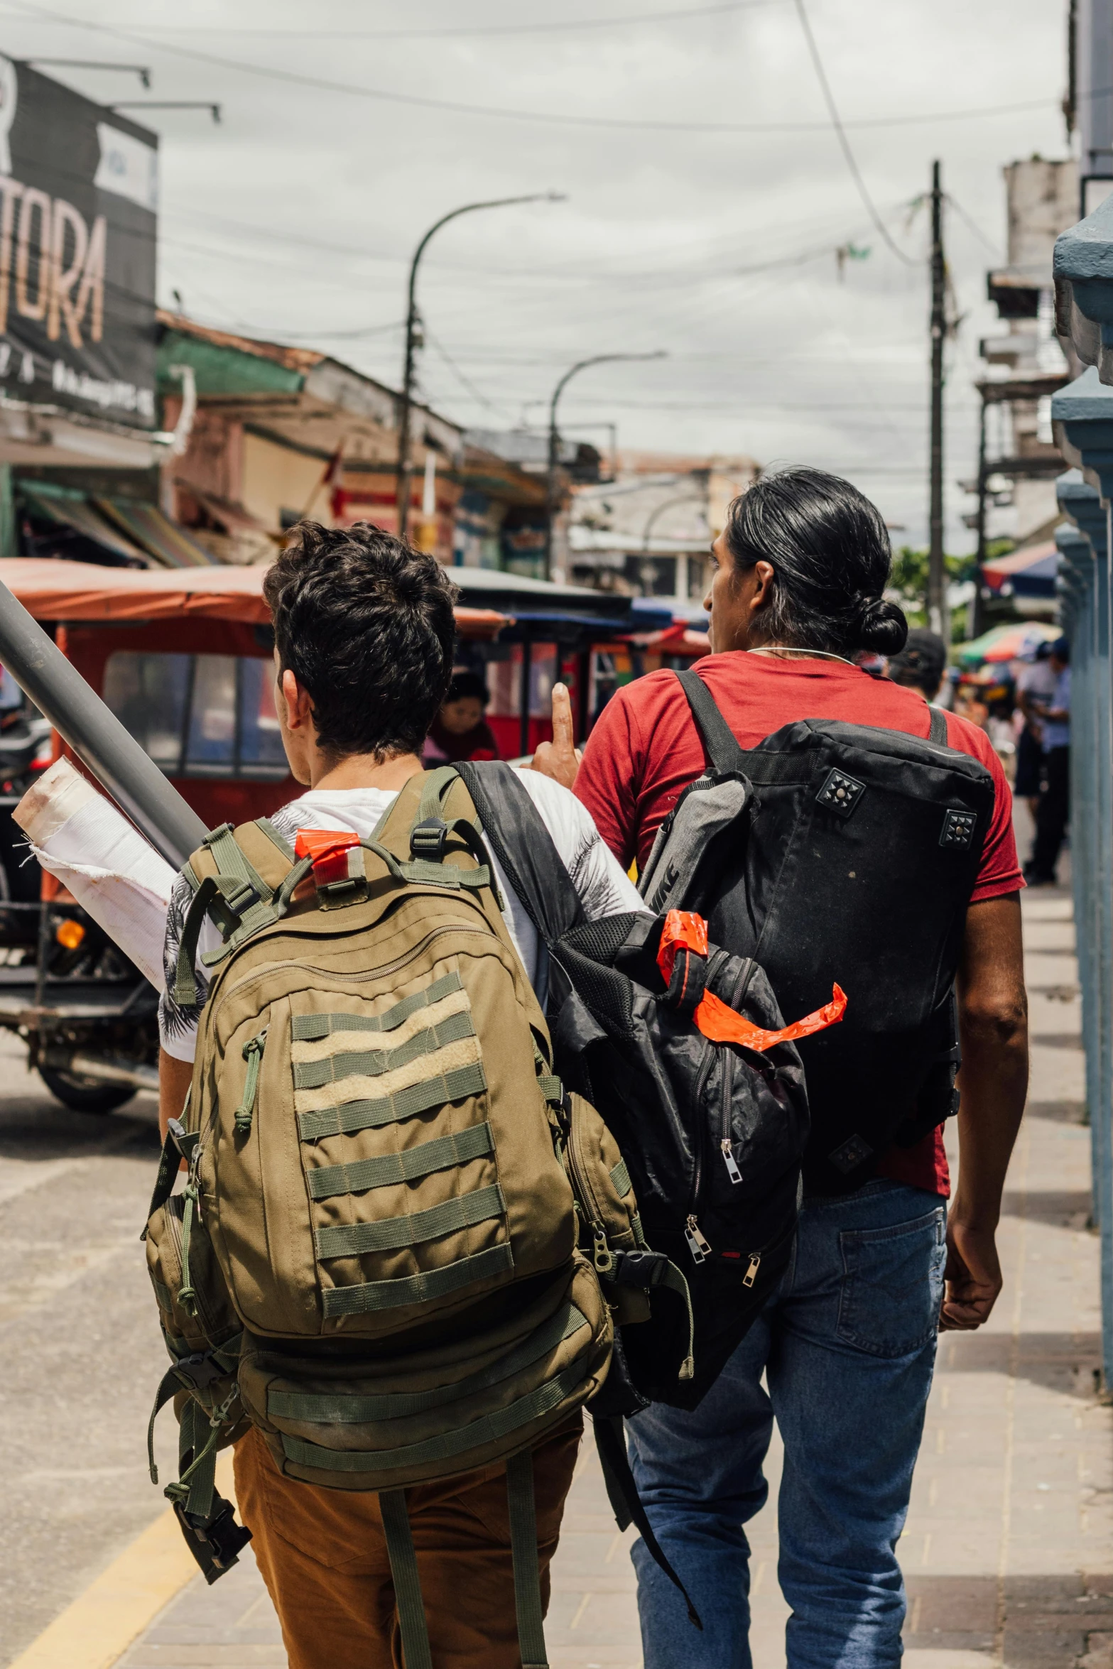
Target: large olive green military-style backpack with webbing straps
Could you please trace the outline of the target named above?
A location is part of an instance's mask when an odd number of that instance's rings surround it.
[[[552,1077],[456,771],[407,783],[372,840],[309,845],[225,824],[184,871],[179,1001],[205,916],[224,943],[145,1232],[172,1357],[152,1427],[172,1397],[180,1422],[167,1495],[215,1581],[249,1539],[215,1455],[249,1424],[287,1477],[377,1490],[422,1669],[405,1487],[507,1460],[522,1662],[542,1666],[531,1450],[599,1392],[614,1314],[649,1314],[611,1283],[644,1247],[629,1177]]]

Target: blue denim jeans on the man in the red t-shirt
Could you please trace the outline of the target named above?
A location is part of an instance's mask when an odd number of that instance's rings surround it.
[[[898,1182],[804,1202],[779,1290],[699,1407],[654,1404],[627,1422],[649,1520],[704,1624],[691,1626],[637,1540],[646,1669],[751,1669],[743,1525],[769,1494],[774,1417],[789,1669],[899,1664],[896,1540],[931,1389],[944,1227],[938,1195]]]

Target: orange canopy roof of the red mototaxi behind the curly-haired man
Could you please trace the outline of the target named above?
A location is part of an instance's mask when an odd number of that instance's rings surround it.
[[[40,621],[165,621],[182,614],[270,623],[265,567],[100,567],[43,556],[0,561],[0,581]],[[461,638],[496,638],[509,616],[457,604]]]

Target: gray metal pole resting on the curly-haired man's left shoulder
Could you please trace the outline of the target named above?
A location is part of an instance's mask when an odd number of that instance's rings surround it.
[[[205,824],[2,581],[0,661],[135,828],[180,870]]]

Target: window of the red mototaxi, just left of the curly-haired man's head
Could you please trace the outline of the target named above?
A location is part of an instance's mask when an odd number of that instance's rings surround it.
[[[167,776],[289,774],[270,661],[118,651],[103,698]]]

